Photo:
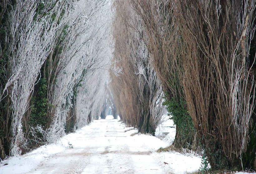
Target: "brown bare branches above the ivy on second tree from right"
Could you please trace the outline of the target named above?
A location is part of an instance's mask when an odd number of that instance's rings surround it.
[[[163,88],[177,100],[182,97],[180,85],[181,47],[178,27],[174,25],[173,10],[168,0],[131,0],[132,7],[142,18],[146,31],[143,39]]]

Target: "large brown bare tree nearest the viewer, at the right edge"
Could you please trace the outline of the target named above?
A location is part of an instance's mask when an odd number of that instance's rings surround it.
[[[185,98],[212,168],[238,165],[249,141],[255,80],[246,60],[255,3],[174,1]]]

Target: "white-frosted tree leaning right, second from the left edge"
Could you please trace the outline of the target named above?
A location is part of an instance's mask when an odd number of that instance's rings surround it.
[[[47,134],[49,142],[63,135],[67,112],[76,107],[76,102],[71,100],[80,95],[77,87],[87,80],[86,74],[104,68],[109,62],[111,55],[107,43],[111,14],[110,3],[106,0],[75,4],[75,12],[66,24],[63,50],[57,55],[59,62],[49,91],[49,102],[53,106]]]

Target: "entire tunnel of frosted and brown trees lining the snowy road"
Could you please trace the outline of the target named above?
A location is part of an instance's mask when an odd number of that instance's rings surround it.
[[[105,119],[256,169],[256,1],[2,0],[0,158]]]

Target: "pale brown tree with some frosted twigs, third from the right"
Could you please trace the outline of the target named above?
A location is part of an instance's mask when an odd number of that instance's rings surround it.
[[[128,2],[115,3],[115,51],[111,67],[114,70],[111,72],[111,88],[116,108],[127,124],[138,127],[140,132],[154,134],[165,111],[160,82],[150,66],[150,55],[140,35],[144,32],[140,25],[141,19]],[[134,28],[139,32],[135,32]]]

